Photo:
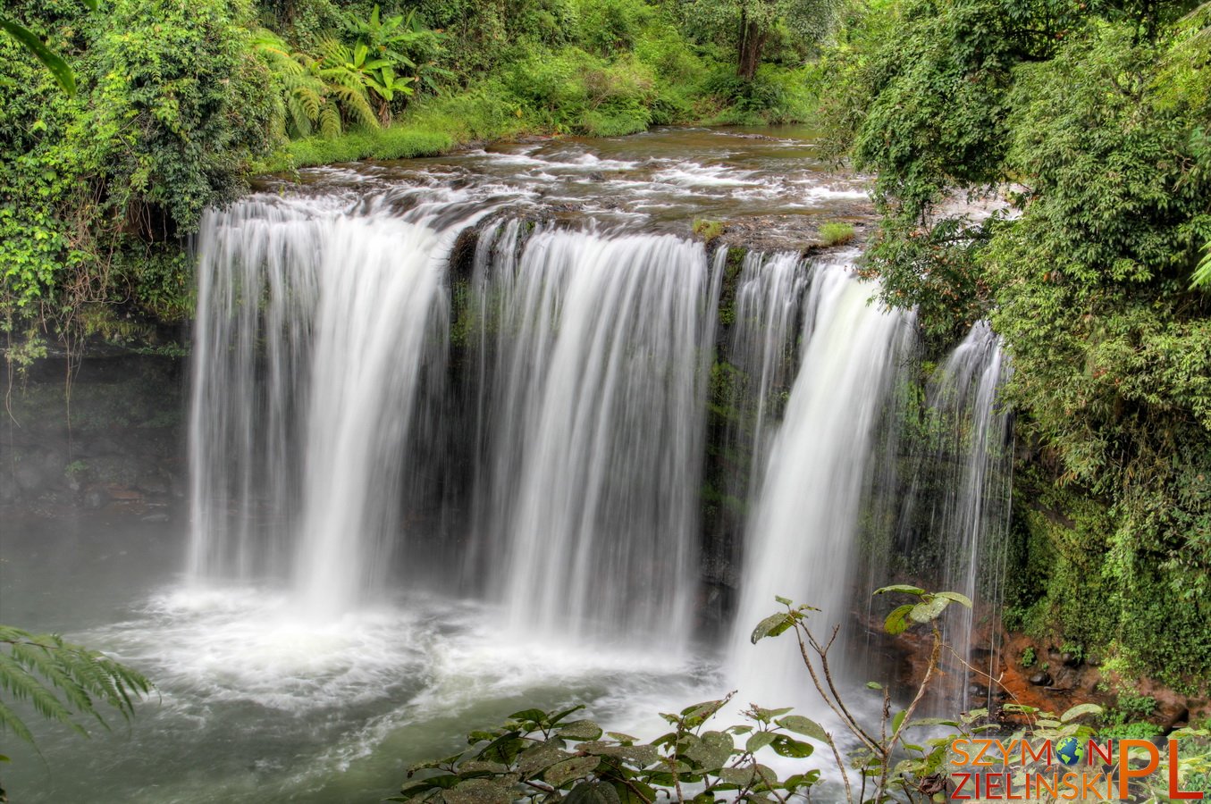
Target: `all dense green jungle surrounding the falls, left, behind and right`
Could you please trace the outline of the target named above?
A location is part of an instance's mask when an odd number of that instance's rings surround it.
[[[1211,10],[1170,0],[8,0],[6,358],[144,337],[258,172],[527,133],[817,120],[876,176],[866,270],[1014,360],[1008,622],[1211,678]],[[965,195],[1010,201],[991,217]],[[1198,281],[1201,277],[1201,286]]]

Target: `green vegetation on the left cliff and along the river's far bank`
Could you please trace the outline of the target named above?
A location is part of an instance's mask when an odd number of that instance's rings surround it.
[[[29,34],[0,35],[0,326],[21,363],[188,315],[185,240],[256,171],[808,109],[800,71],[724,81],[730,56],[648,0],[15,0],[4,18]],[[57,71],[75,97],[28,47],[75,68]]]

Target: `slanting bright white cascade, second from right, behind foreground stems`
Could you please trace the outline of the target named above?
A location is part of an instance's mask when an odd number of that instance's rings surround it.
[[[873,305],[849,265],[817,265],[810,281],[798,377],[747,529],[729,656],[742,700],[763,706],[813,700],[792,639],[750,644],[777,610],[774,596],[820,608],[813,626],[825,638],[849,620],[872,438],[911,339],[908,318]]]

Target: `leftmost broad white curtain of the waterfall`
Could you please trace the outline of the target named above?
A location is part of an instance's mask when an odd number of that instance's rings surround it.
[[[289,578],[318,614],[375,588],[397,546],[417,389],[448,328],[448,239],[346,206],[211,212],[197,269],[190,573]]]

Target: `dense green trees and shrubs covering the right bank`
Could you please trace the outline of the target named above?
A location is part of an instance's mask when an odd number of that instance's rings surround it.
[[[1201,687],[1211,303],[1190,285],[1211,76],[1184,11],[879,4],[826,56],[820,94],[833,151],[877,173],[863,272],[917,309],[930,354],[988,317],[1012,357],[1031,463],[1006,622]],[[1010,209],[966,206],[989,194]]]

